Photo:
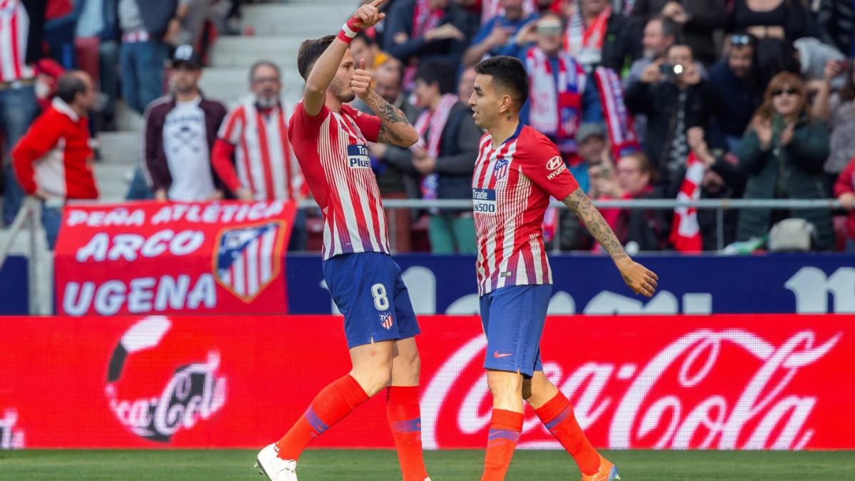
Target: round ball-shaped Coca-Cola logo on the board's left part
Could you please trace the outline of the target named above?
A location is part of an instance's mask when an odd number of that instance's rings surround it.
[[[152,316],[127,330],[110,358],[105,389],[115,418],[135,435],[157,442],[169,442],[176,432],[209,419],[226,403],[226,378],[219,374],[220,353],[213,349],[204,356],[187,359],[195,362],[176,365],[174,371],[162,377],[156,375],[156,366],[151,364],[168,364],[175,359],[149,356],[150,359],[140,359],[139,362],[148,362],[141,366],[144,369],[136,371],[151,372],[153,376],[128,379],[124,375],[131,359],[136,362],[142,357],[139,353],[159,346],[171,327],[168,318]],[[159,390],[142,389],[145,392],[140,393],[139,383],[156,385]],[[123,396],[123,392],[127,394]]]

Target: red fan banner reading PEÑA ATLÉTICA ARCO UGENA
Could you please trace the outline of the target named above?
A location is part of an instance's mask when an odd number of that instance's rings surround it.
[[[56,243],[61,314],[284,313],[284,202],[69,205]]]

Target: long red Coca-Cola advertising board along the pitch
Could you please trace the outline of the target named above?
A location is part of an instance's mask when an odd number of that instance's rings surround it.
[[[481,324],[421,324],[424,445],[483,448]],[[557,317],[541,348],[596,447],[855,448],[852,318]],[[333,316],[0,318],[0,447],[260,448],[348,359]],[[312,446],[391,448],[384,399]]]

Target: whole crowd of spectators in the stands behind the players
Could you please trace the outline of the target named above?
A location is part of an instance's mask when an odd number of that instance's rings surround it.
[[[198,88],[210,26],[239,33],[244,2],[212,21],[215,3],[0,0],[5,223],[25,194],[36,195],[51,240],[66,200],[97,198],[97,133],[115,129],[118,98],[144,114],[128,199],[308,197],[287,145],[290,106],[280,100],[280,68],[292,66],[259,59],[245,104],[223,105]],[[516,56],[531,85],[523,122],[556,143],[592,199],[834,197],[840,211],[725,211],[723,240],[762,239],[794,218],[812,224],[814,250],[855,252],[851,0],[389,0],[382,8],[386,20],[351,50],[421,135],[410,149],[369,145],[385,199],[470,199],[481,137],[468,106],[473,67]],[[353,106],[369,111],[358,99]],[[298,217],[294,250],[312,245],[308,214]],[[686,250],[694,225],[673,209],[603,214],[622,243],[643,251]],[[390,215],[398,252],[475,252],[471,213]],[[696,220],[703,250],[715,250],[716,211]],[[563,251],[598,248],[570,211],[549,212],[545,235]]]

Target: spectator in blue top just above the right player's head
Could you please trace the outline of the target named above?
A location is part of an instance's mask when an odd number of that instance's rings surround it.
[[[463,54],[463,66],[474,67],[488,56],[513,55],[516,33],[527,23],[537,21],[537,14],[526,14],[522,0],[501,0],[504,13],[496,15],[481,25],[472,46]]]

